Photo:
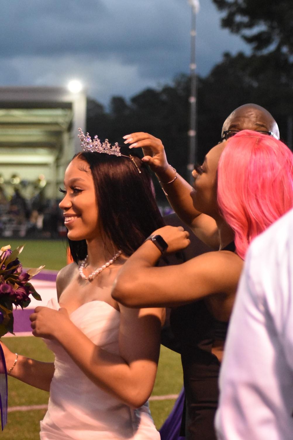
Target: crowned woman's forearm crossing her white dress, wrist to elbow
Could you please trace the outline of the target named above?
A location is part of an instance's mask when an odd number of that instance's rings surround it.
[[[95,385],[131,407],[140,407],[146,402],[153,381],[148,378],[151,380],[145,381],[142,387],[142,375],[135,362],[129,365],[121,356],[96,346],[71,322],[55,337]],[[154,365],[154,377],[156,368]]]

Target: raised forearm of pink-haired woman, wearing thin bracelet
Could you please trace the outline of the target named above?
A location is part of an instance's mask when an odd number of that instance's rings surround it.
[[[157,174],[161,187],[164,189],[164,192],[168,194],[168,201],[175,213],[185,224],[192,226],[193,220],[200,215],[200,212],[194,208],[192,198],[190,197],[193,187],[179,176],[179,174],[177,178],[171,182],[174,177],[175,171],[171,166],[168,166],[164,172],[162,171],[160,174]]]

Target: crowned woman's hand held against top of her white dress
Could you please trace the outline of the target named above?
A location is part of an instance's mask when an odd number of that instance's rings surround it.
[[[32,334],[46,339],[56,339],[63,326],[71,322],[66,308],[53,310],[48,307],[36,307],[29,319]]]

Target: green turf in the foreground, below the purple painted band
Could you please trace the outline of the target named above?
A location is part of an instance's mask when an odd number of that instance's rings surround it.
[[[35,337],[4,337],[2,339],[11,351],[46,362],[54,355],[44,342]],[[178,394],[182,387],[182,368],[180,356],[161,347],[156,383],[153,395]],[[8,407],[41,405],[47,403],[49,393],[26,385],[14,378],[8,378]],[[172,409],[175,400],[151,401],[150,409],[155,425],[159,429]],[[8,423],[1,440],[39,440],[39,421],[45,411],[15,411],[8,413]]]

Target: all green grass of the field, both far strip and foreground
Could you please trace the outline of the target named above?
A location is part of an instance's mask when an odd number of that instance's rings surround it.
[[[24,267],[46,265],[46,269],[59,270],[66,264],[65,240],[11,240],[1,239],[1,246],[7,244],[14,249],[25,243],[20,259]],[[35,337],[4,338],[4,343],[14,352],[50,362],[54,359],[42,340]],[[180,356],[161,347],[161,355],[153,396],[178,394],[182,388],[182,367]],[[47,392],[35,389],[13,378],[8,378],[8,407],[46,404]],[[154,422],[159,429],[172,409],[175,400],[157,400],[150,402]],[[1,440],[39,440],[39,421],[46,410],[13,411],[8,413],[8,423]]]

